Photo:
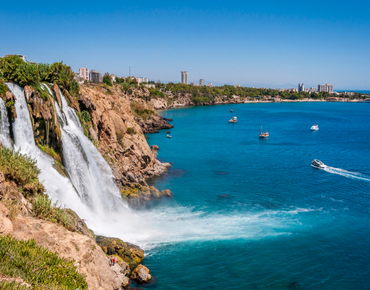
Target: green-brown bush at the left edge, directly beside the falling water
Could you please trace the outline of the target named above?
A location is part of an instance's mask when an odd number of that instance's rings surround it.
[[[44,192],[44,186],[38,180],[40,170],[36,166],[36,160],[26,155],[0,148],[0,171],[5,178],[17,184],[26,197]]]

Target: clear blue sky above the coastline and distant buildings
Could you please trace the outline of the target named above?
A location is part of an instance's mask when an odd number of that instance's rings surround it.
[[[118,76],[370,90],[370,1],[6,1],[0,56]]]

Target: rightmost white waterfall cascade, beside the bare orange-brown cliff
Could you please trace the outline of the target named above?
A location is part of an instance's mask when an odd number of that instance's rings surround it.
[[[50,88],[44,85],[53,96]],[[63,112],[55,102],[62,134],[63,161],[79,196],[100,216],[104,211],[127,207],[113,182],[113,174],[92,142],[85,136],[76,112],[60,92]]]

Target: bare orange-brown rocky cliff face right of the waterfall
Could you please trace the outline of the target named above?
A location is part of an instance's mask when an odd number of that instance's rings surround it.
[[[93,142],[110,164],[121,190],[128,188],[148,192],[146,178],[162,174],[169,164],[161,164],[150,149],[144,133],[172,128],[155,111],[146,88],[122,86],[107,89],[81,86],[80,107],[91,115],[89,133]],[[130,195],[134,198],[134,195]]]

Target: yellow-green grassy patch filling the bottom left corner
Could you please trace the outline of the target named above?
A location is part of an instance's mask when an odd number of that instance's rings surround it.
[[[0,275],[20,277],[31,285],[30,289],[87,289],[73,262],[37,246],[34,240],[0,236]]]

